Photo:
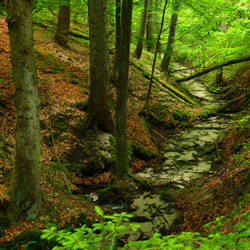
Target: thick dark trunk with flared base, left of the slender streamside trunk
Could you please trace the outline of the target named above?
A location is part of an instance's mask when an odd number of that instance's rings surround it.
[[[109,110],[109,33],[107,0],[89,0],[90,96],[84,130],[114,132]]]

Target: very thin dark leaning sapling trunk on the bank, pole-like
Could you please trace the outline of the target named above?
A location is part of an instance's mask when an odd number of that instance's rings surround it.
[[[157,43],[156,43],[156,48],[155,48],[154,61],[153,61],[153,66],[152,66],[152,73],[151,73],[151,77],[150,77],[150,82],[149,82],[149,88],[148,88],[148,94],[147,94],[147,100],[146,100],[145,108],[148,107],[148,103],[149,103],[149,100],[150,100],[151,89],[152,89],[152,84],[153,84],[153,77],[154,77],[154,72],[155,72],[155,63],[156,63],[156,58],[157,58],[157,52],[158,52],[159,46],[160,46],[161,33],[162,33],[163,24],[164,24],[167,4],[168,4],[168,1],[166,0],[164,8],[163,8],[162,18],[161,18],[161,27],[160,27],[160,30],[159,30],[159,33],[158,33],[158,38],[157,38]]]

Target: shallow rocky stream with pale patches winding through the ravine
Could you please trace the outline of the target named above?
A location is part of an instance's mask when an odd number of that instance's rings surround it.
[[[180,64],[175,64],[174,67],[184,68]],[[176,77],[184,77],[191,73],[190,70],[178,72]],[[198,99],[203,108],[209,110],[224,103],[218,95],[209,92],[200,81],[190,80],[183,85]],[[141,228],[137,232],[128,233],[127,241],[147,239],[156,232],[166,235],[178,226],[182,218],[174,202],[168,197],[167,191],[184,188],[191,181],[218,171],[214,163],[216,155],[212,156],[208,152],[216,149],[216,140],[230,123],[232,116],[211,116],[192,128],[166,138],[161,150],[164,155],[163,163],[152,165],[137,174],[138,177],[156,183],[158,188],[153,192],[145,191],[134,195],[129,210],[134,217],[130,224],[140,224]]]

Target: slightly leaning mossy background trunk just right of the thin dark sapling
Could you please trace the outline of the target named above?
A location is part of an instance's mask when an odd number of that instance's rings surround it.
[[[168,43],[167,48],[164,53],[164,57],[161,62],[161,71],[169,72],[169,64],[171,61],[171,56],[173,52],[173,44],[175,40],[175,33],[176,33],[176,27],[177,27],[177,21],[178,21],[178,14],[176,13],[180,7],[180,0],[175,0],[173,2],[173,11],[174,13],[171,16],[171,22],[170,22],[170,29],[169,29],[169,35],[168,35]]]

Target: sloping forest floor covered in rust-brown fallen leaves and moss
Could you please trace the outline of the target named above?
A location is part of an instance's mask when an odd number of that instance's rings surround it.
[[[67,170],[70,152],[78,148],[79,152],[77,151],[76,154],[81,155],[81,145],[85,140],[81,132],[85,111],[79,109],[77,103],[86,101],[89,95],[88,42],[72,38],[69,48],[65,49],[54,43],[51,30],[35,26],[35,52],[40,99],[41,186],[43,200],[50,208],[50,215],[41,216],[35,223],[24,222],[16,227],[5,229],[1,233],[0,243],[13,239],[28,228],[43,228],[49,217],[53,217],[59,227],[67,223],[73,224],[72,220],[80,218],[82,214],[85,215],[87,221],[98,219],[94,214],[95,204],[82,200],[79,196],[67,194],[67,189],[70,186],[70,189],[77,193],[79,183],[105,184],[109,183],[112,178],[110,172],[80,177]],[[145,64],[150,60],[152,61],[152,57],[145,54],[138,65],[145,71],[150,71],[150,65]],[[132,61],[135,60],[132,59]],[[156,71],[156,74],[166,81],[159,71]],[[9,36],[7,24],[3,18],[0,19],[0,75],[0,202],[3,204],[3,201],[8,200],[10,172],[14,165],[16,126]],[[242,77],[242,83],[245,84],[247,81],[248,76]],[[140,115],[145,103],[148,82],[143,73],[132,64],[130,67],[127,134],[135,152],[131,165],[136,172],[150,164],[150,161],[157,161],[161,157],[157,147],[161,141],[156,141],[152,137],[145,118]],[[110,93],[113,100],[110,107],[112,115],[115,117],[115,87],[111,86]],[[170,133],[169,128],[183,129],[184,126],[192,125],[202,119],[202,116],[201,108],[183,101],[180,102],[163,86],[157,84],[155,84],[151,96],[149,111],[145,115],[150,118],[151,126],[154,126],[165,137]],[[236,201],[238,197],[245,190],[249,190],[247,184],[249,182],[246,182],[245,178],[248,177],[250,151],[246,147],[244,148],[243,144],[249,139],[248,132],[246,128],[239,131],[232,125],[226,136],[221,139],[222,171],[212,177],[204,177],[199,180],[204,189],[213,191],[212,197],[197,202],[194,199],[196,193],[193,189],[187,188],[180,191],[176,202],[185,219],[179,231],[203,230],[204,223],[232,212],[240,202]],[[55,139],[54,143],[52,138]],[[235,147],[235,145],[238,146]],[[233,154],[237,154],[239,157],[233,158]],[[145,157],[147,157],[146,160]],[[240,167],[235,168],[237,162]],[[241,164],[244,162],[247,164]],[[234,204],[234,206],[230,206],[230,204]],[[240,213],[249,208],[250,199],[247,196],[240,208]]]

